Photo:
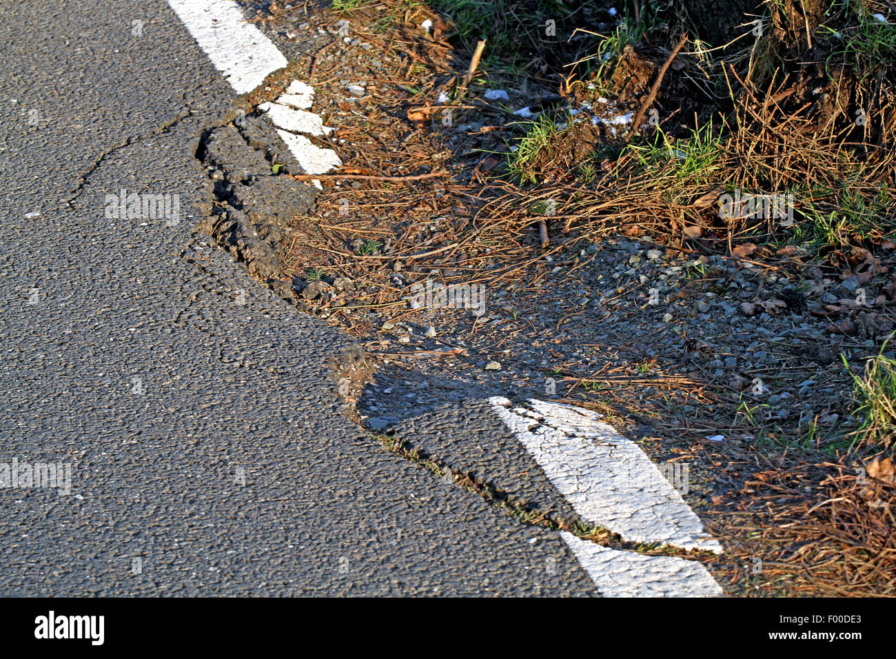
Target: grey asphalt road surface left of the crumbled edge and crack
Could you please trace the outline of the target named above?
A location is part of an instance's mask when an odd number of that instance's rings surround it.
[[[234,94],[168,4],[7,3],[0,53],[0,463],[72,467],[0,489],[0,594],[594,594],[557,533],[366,437],[348,340],[194,232]],[[107,217],[122,189],[180,220]]]

